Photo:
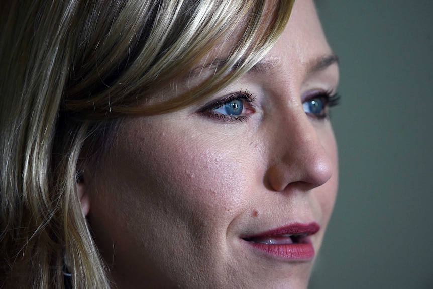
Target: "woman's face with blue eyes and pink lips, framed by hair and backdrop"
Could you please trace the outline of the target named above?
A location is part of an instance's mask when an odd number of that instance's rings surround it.
[[[335,60],[312,1],[297,1],[235,83],[122,123],[82,199],[119,288],[307,286],[337,192]]]

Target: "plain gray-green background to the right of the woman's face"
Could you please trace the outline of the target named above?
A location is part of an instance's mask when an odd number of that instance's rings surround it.
[[[310,288],[432,289],[433,1],[317,8],[341,61],[341,181]]]

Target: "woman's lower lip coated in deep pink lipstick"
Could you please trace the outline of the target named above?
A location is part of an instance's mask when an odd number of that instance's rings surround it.
[[[314,258],[314,248],[309,240],[297,244],[262,244],[248,242],[255,249],[268,255],[287,260],[309,261]]]

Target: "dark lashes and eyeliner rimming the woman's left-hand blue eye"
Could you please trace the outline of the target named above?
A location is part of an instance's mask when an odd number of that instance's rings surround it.
[[[221,119],[223,121],[232,121],[232,122],[247,121],[250,118],[249,115],[236,116],[236,115],[225,115],[225,114],[213,112],[213,110],[221,108],[225,104],[227,104],[229,102],[232,102],[232,101],[235,101],[235,100],[241,100],[244,103],[244,107],[247,104],[250,109],[254,109],[254,106],[252,105],[252,103],[254,102],[255,97],[253,96],[253,94],[251,94],[250,92],[248,92],[247,90],[245,90],[245,91],[239,91],[237,93],[229,95],[226,98],[223,98],[223,99],[214,101],[214,102],[212,102],[212,103],[210,103],[208,105],[205,105],[198,112],[201,113],[201,114],[203,114],[203,115],[207,115],[209,117],[215,118],[215,119]]]

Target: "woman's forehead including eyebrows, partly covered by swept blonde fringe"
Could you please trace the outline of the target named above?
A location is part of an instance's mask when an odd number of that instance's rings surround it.
[[[234,29],[218,46],[215,46],[197,66],[185,73],[184,79],[211,76],[227,64],[227,55],[241,39],[241,29]],[[242,62],[241,59],[239,62]],[[289,22],[271,51],[252,67],[250,72],[265,74],[283,70],[281,65],[303,67],[306,74],[319,71],[337,62],[323,34],[314,3],[296,1]],[[237,64],[233,69],[236,69]]]

